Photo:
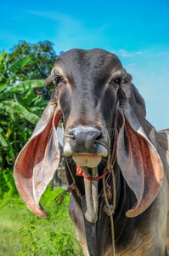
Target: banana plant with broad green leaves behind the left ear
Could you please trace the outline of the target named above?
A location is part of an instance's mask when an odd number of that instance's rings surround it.
[[[17,75],[14,81],[14,73],[31,61],[31,57],[27,55],[10,66],[8,61],[8,54],[3,50],[0,55],[0,170],[13,167],[47,104],[42,95],[38,95],[38,88],[44,86],[42,80],[20,83]]]

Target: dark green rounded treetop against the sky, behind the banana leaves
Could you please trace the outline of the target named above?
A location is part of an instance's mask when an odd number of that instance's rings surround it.
[[[53,49],[54,44],[49,41],[38,42],[37,44],[19,41],[14,45],[9,56],[9,64],[20,58],[30,55],[31,61],[18,71],[20,79],[46,79],[54,67],[54,61],[57,58]]]

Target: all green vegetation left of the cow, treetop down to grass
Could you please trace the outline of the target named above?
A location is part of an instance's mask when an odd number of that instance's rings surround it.
[[[48,186],[42,206],[49,218],[37,218],[15,188],[13,167],[21,148],[48,103],[51,89],[44,88],[54,67],[53,44],[20,41],[9,54],[0,54],[0,255],[82,255],[68,213],[54,203],[62,189]]]

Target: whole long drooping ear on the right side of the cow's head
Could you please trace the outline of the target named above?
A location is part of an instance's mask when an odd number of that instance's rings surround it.
[[[138,119],[137,108],[135,106],[136,111],[133,110],[126,98],[121,100],[118,109],[121,130],[117,141],[117,161],[137,199],[136,205],[126,213],[130,218],[138,216],[150,206],[161,189],[163,179],[155,128],[144,118],[143,109],[140,109]]]

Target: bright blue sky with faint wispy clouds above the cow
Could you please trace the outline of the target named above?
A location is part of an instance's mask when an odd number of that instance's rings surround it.
[[[144,96],[147,119],[169,128],[169,1],[0,1],[0,51],[49,40],[57,54],[109,50]]]

